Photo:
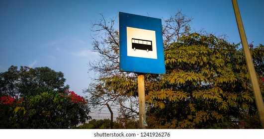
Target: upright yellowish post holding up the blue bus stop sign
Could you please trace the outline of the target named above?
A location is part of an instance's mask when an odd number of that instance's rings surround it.
[[[146,129],[144,125],[144,119],[146,119],[146,108],[145,108],[145,83],[144,75],[138,75],[138,102],[139,102],[139,128]]]

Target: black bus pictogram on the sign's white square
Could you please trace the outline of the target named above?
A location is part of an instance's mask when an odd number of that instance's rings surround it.
[[[132,38],[132,49],[134,51],[137,49],[146,50],[147,52],[152,51],[152,41]]]

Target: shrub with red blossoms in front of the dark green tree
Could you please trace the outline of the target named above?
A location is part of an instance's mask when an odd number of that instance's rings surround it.
[[[87,100],[69,90],[43,92],[24,100],[0,96],[0,123],[4,123],[0,129],[68,129],[89,120],[89,112]]]

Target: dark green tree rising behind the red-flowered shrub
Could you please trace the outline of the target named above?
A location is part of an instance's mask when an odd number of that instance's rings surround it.
[[[69,85],[64,85],[64,74],[48,67],[29,68],[11,66],[0,73],[0,95],[29,96],[36,95],[41,90],[64,91]]]

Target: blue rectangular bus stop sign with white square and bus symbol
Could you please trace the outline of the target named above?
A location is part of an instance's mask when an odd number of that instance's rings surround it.
[[[120,71],[165,74],[161,19],[119,12]]]

